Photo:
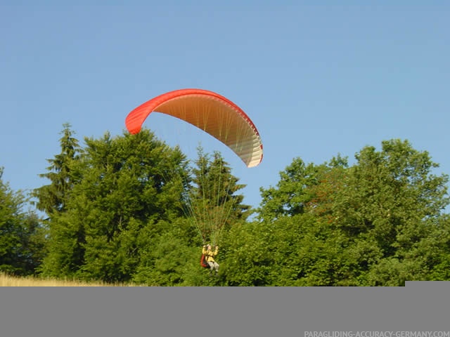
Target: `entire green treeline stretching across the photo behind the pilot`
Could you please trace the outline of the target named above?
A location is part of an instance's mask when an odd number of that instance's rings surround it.
[[[199,152],[207,171],[220,164],[234,200],[219,276],[209,277],[186,213],[186,195],[201,190],[200,169],[179,148],[148,130],[84,138],[84,146],[69,124],[61,134],[61,151],[41,174],[47,185],[29,196],[12,191],[0,171],[0,272],[155,286],[450,279],[449,177],[407,140],[364,147],[352,165],[340,155],[323,164],[295,158],[276,186],[260,189],[257,209],[243,204],[244,186],[220,154]]]

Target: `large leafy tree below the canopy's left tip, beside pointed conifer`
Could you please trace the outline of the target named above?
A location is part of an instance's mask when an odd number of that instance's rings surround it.
[[[150,131],[85,138],[72,166],[67,211],[52,219],[46,275],[127,282],[140,261],[143,228],[181,216],[182,184],[176,170],[184,154]]]

